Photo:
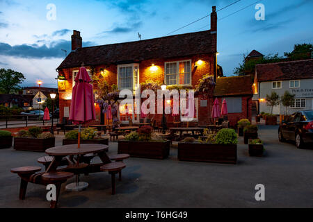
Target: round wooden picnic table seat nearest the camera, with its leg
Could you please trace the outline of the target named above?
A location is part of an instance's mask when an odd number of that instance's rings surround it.
[[[60,189],[63,182],[66,182],[67,179],[70,179],[74,176],[74,173],[69,172],[53,172],[53,173],[44,173],[42,174],[42,180],[56,185],[56,200],[51,200],[50,208],[56,208],[58,203],[58,197],[60,196]]]

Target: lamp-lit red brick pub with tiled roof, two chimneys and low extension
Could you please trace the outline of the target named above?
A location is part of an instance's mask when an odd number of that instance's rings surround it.
[[[118,89],[135,91],[146,80],[195,89],[204,75],[211,75],[216,81],[211,98],[195,96],[195,118],[189,126],[205,126],[212,122],[211,110],[214,99],[218,98],[220,107],[223,99],[227,101],[230,126],[242,118],[251,119],[252,83],[250,76],[223,77],[223,70],[217,65],[217,14],[216,7],[211,12],[211,29],[196,33],[172,35],[150,40],[106,44],[102,46],[82,46],[79,31],[72,35],[72,52],[56,69],[58,71],[58,91],[60,120],[69,117],[72,87],[79,67],[83,63],[92,76],[101,75],[109,85]],[[92,71],[93,70],[93,71]],[[90,83],[92,84],[92,83]],[[97,86],[94,85],[97,91]],[[120,108],[122,109],[122,108]],[[120,111],[120,110],[119,110]],[[104,124],[102,108],[96,104],[97,121]],[[162,114],[150,114],[147,118],[156,120],[161,126]],[[166,115],[168,126],[181,117]],[[133,123],[141,121],[141,115],[134,112],[118,113],[118,119]]]

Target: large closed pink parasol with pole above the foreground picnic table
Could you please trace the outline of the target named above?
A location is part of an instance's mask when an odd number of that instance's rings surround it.
[[[75,78],[76,84],[73,88],[70,107],[70,121],[79,125],[78,148],[80,147],[81,142],[81,124],[96,119],[93,86],[89,84],[91,81],[86,68],[82,65]]]

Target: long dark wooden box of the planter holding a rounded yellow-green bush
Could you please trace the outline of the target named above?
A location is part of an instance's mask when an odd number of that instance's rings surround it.
[[[236,164],[237,145],[178,143],[178,160]]]

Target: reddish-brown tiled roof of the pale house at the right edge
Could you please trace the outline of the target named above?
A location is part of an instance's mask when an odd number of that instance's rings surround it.
[[[313,78],[313,59],[260,64],[256,72],[259,82]]]

